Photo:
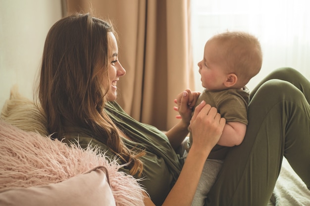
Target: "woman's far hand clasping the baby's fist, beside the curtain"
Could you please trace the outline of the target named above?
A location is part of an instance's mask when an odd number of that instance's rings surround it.
[[[200,92],[192,92],[190,89],[180,93],[174,100],[174,103],[177,104],[177,106],[174,107],[174,110],[178,111],[180,114],[177,115],[176,118],[182,119],[184,123],[189,125],[193,107],[195,106],[199,95]]]

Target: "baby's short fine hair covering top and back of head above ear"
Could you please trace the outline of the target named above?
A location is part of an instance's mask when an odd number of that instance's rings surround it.
[[[237,87],[244,87],[258,74],[262,64],[262,51],[258,38],[246,32],[224,32],[211,37],[221,47],[227,72],[238,77]]]

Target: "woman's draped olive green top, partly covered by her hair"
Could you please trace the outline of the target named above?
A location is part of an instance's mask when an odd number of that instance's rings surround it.
[[[138,147],[145,150],[146,155],[140,157],[144,163],[144,170],[140,177],[142,180],[139,181],[155,205],[161,205],[181,172],[182,161],[179,155],[175,153],[165,134],[154,126],[136,121],[117,103],[106,103],[104,110],[117,127],[133,140],[123,138],[128,148]],[[76,128],[74,132],[67,133],[65,142],[75,142],[73,140],[78,140],[82,148],[86,148],[88,144],[98,145],[106,152],[105,155],[111,158],[115,156],[103,142],[95,140],[92,132],[86,129]],[[129,170],[121,170],[129,174]]]

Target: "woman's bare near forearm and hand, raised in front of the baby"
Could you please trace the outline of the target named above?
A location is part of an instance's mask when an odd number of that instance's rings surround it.
[[[216,108],[205,102],[195,108],[190,126],[193,144],[179,178],[163,206],[191,205],[207,156],[218,142],[224,125],[225,119],[220,117]],[[154,205],[148,197],[145,199],[145,204]]]

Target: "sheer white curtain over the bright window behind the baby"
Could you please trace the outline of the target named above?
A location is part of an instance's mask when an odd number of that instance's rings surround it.
[[[258,37],[263,51],[259,74],[248,84],[251,90],[278,67],[298,69],[310,79],[309,0],[192,0],[192,37],[195,86],[200,91],[197,62],[212,35],[243,30]]]

